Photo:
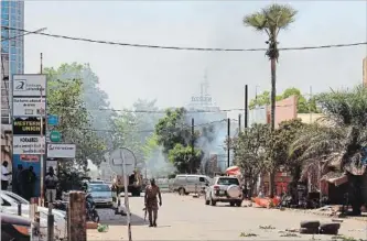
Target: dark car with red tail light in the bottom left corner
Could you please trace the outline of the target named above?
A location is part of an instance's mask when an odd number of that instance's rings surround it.
[[[17,215],[1,213],[1,241],[30,241],[31,220]]]

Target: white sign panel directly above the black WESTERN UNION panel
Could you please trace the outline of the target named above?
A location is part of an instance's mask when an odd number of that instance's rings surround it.
[[[13,116],[14,117],[34,117],[44,113],[46,108],[46,99],[41,98],[13,98]]]

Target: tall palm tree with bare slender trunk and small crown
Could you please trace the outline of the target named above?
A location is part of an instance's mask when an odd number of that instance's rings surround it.
[[[266,32],[268,35],[268,51],[266,55],[271,66],[271,130],[276,127],[276,98],[277,98],[277,62],[279,58],[278,35],[295,20],[296,10],[290,6],[270,4],[259,12],[251,13],[244,18],[244,24],[256,31]],[[274,178],[270,174],[270,196],[274,191]]]

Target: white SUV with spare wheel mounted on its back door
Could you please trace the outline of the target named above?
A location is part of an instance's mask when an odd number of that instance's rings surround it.
[[[215,206],[217,202],[229,202],[240,207],[244,200],[242,189],[237,177],[214,177],[211,186],[205,188],[205,205]]]

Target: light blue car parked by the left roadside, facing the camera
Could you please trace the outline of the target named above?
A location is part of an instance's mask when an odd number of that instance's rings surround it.
[[[108,184],[88,184],[88,193],[90,193],[97,207],[108,207],[114,206],[112,190]]]

